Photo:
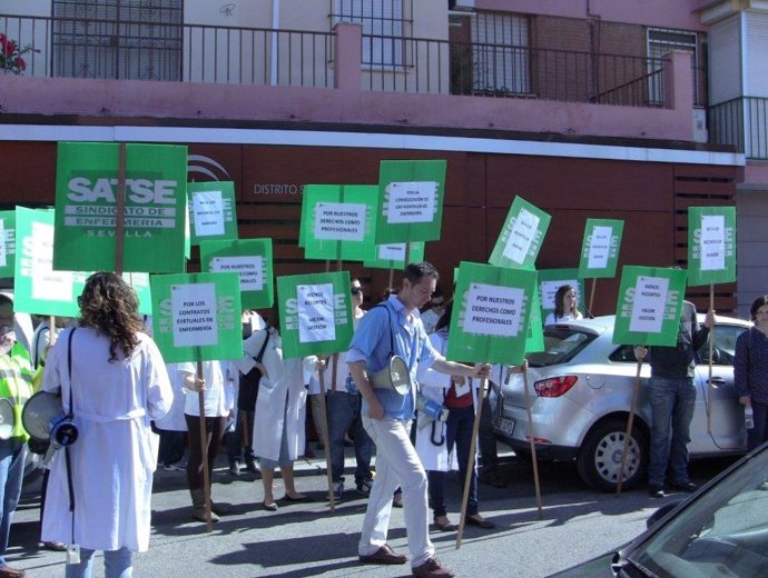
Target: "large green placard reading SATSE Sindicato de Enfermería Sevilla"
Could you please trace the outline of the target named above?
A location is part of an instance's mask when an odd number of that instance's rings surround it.
[[[60,142],[56,166],[57,270],[114,271],[120,146]],[[124,271],[184,271],[187,147],[126,146]]]

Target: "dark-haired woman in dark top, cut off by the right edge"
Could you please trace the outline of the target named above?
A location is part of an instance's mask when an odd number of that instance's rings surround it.
[[[754,427],[747,428],[747,448],[768,440],[768,295],[749,308],[755,327],[736,340],[733,387],[745,412],[752,411]]]

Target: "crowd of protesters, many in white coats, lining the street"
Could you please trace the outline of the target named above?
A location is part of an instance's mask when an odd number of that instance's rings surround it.
[[[498,469],[490,407],[479,386],[488,378],[490,387],[499,388],[510,372],[525,368],[446,360],[452,302],[437,289],[437,281],[439,273],[430,263],[412,263],[402,286],[388,289],[376,305],[372,300],[366,311],[364,286],[353,278],[354,338],[347,351],[329,357],[285,359],[277,307],[266,319],[246,310],[243,359],[201,365],[163,361],[150,328],[138,315],[132,290],[116,275],[89,278],[77,320],[57,319],[52,332],[49,321],[40,323],[31,358],[12,330],[12,300],[0,295],[0,397],[20,411],[33,393],[35,381],[43,391],[61,396],[65,412],[73,416],[79,428],[77,444],[56,451],[50,471],[46,470],[42,546],[66,550],[66,545],[77,545],[67,551],[67,577],[90,576],[96,550],[105,551],[107,578],[131,576],[131,554],[148,547],[156,467],[186,475],[194,519],[210,524],[226,516],[227,508],[213,500],[210,492],[220,447],[226,448],[230,476],[240,476],[245,468],[260,477],[265,510],[309,501],[311,497],[297,491],[293,471],[295,460],[309,449],[309,400],[316,447],[328,445],[328,498],[336,501],[352,489],[344,476],[344,448],[354,446],[354,490],[368,498],[360,560],[407,562],[405,555],[386,542],[391,508],[401,505],[413,575],[453,576],[434,556],[429,509],[435,529],[456,529],[444,495],[446,472],[459,470],[460,479],[470,477],[465,524],[494,527],[481,514],[477,482],[503,487],[505,481]],[[755,328],[737,342],[735,362],[740,401],[755,412],[750,447],[768,438],[768,385],[762,371],[768,363],[768,296],[761,299],[752,306]],[[554,309],[548,323],[581,319],[573,287],[558,290]],[[713,323],[710,311],[705,326],[698,327],[696,309],[686,302],[676,347],[636,348],[638,359],[649,358],[652,368],[651,496],[663,495],[667,479],[675,488],[695,489],[686,449],[696,395],[690,376],[693,351]],[[412,390],[406,395],[373,386],[373,376],[393,352],[407,363]],[[481,400],[482,469],[470,459]],[[159,434],[159,448],[152,447],[152,432]],[[10,438],[0,441],[0,578],[24,575],[6,564],[3,554],[28,438],[19,420]],[[285,488],[282,497],[273,494],[276,468]]]

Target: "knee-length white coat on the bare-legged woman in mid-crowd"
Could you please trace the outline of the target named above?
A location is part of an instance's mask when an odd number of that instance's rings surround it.
[[[254,367],[266,335],[258,331],[243,342],[245,357],[237,363],[243,373]],[[274,461],[279,459],[283,427],[288,440],[288,458],[304,452],[307,390],[301,359],[283,359],[283,341],[276,329],[269,329],[269,342],[262,363],[267,370],[258,383],[254,419],[254,454]]]

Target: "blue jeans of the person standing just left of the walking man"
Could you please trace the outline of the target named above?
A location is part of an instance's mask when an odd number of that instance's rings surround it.
[[[344,435],[353,427],[355,442],[355,481],[371,479],[371,454],[373,441],[363,427],[361,419],[360,393],[345,391],[331,392],[326,396],[328,406],[328,444],[331,445],[331,474],[334,481],[339,481],[344,474]]]

